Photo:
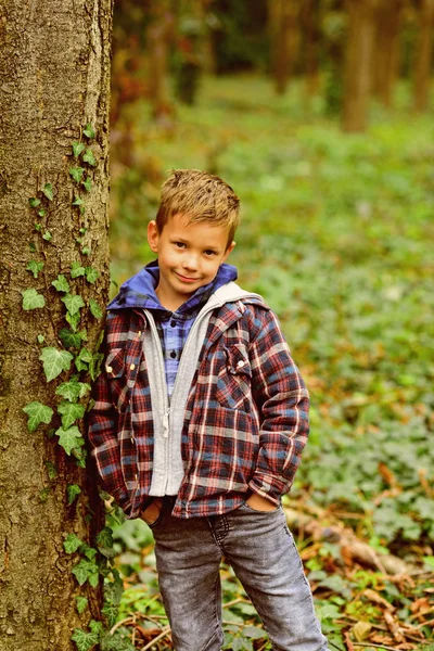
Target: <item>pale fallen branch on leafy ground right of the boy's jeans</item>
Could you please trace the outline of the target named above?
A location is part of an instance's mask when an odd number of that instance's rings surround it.
[[[407,574],[412,567],[398,557],[375,551],[367,542],[359,540],[352,529],[340,524],[324,526],[316,518],[283,508],[290,528],[306,532],[314,540],[329,540],[341,546],[343,558],[378,570],[383,574]]]

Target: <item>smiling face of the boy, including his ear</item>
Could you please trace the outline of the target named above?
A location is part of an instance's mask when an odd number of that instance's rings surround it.
[[[183,215],[174,215],[158,232],[155,221],[148,227],[148,242],[158,256],[159,282],[156,295],[161,304],[175,311],[217,276],[235,243],[228,245],[228,229],[206,221],[188,224]]]

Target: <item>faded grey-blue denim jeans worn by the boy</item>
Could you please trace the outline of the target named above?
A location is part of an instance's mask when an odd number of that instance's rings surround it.
[[[279,651],[328,651],[310,586],[281,508],[242,505],[226,515],[173,518],[165,503],[151,525],[164,607],[177,651],[219,651],[221,558],[233,571]]]

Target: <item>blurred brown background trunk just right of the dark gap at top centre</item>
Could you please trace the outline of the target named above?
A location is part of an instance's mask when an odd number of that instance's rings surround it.
[[[268,0],[271,75],[276,92],[283,94],[291,77],[297,51],[298,3],[294,0]]]

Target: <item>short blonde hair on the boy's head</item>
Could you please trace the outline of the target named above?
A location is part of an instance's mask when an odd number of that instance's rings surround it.
[[[188,224],[208,221],[228,228],[228,246],[240,222],[240,200],[218,176],[199,169],[173,169],[162,187],[155,222],[161,233],[174,215]]]

